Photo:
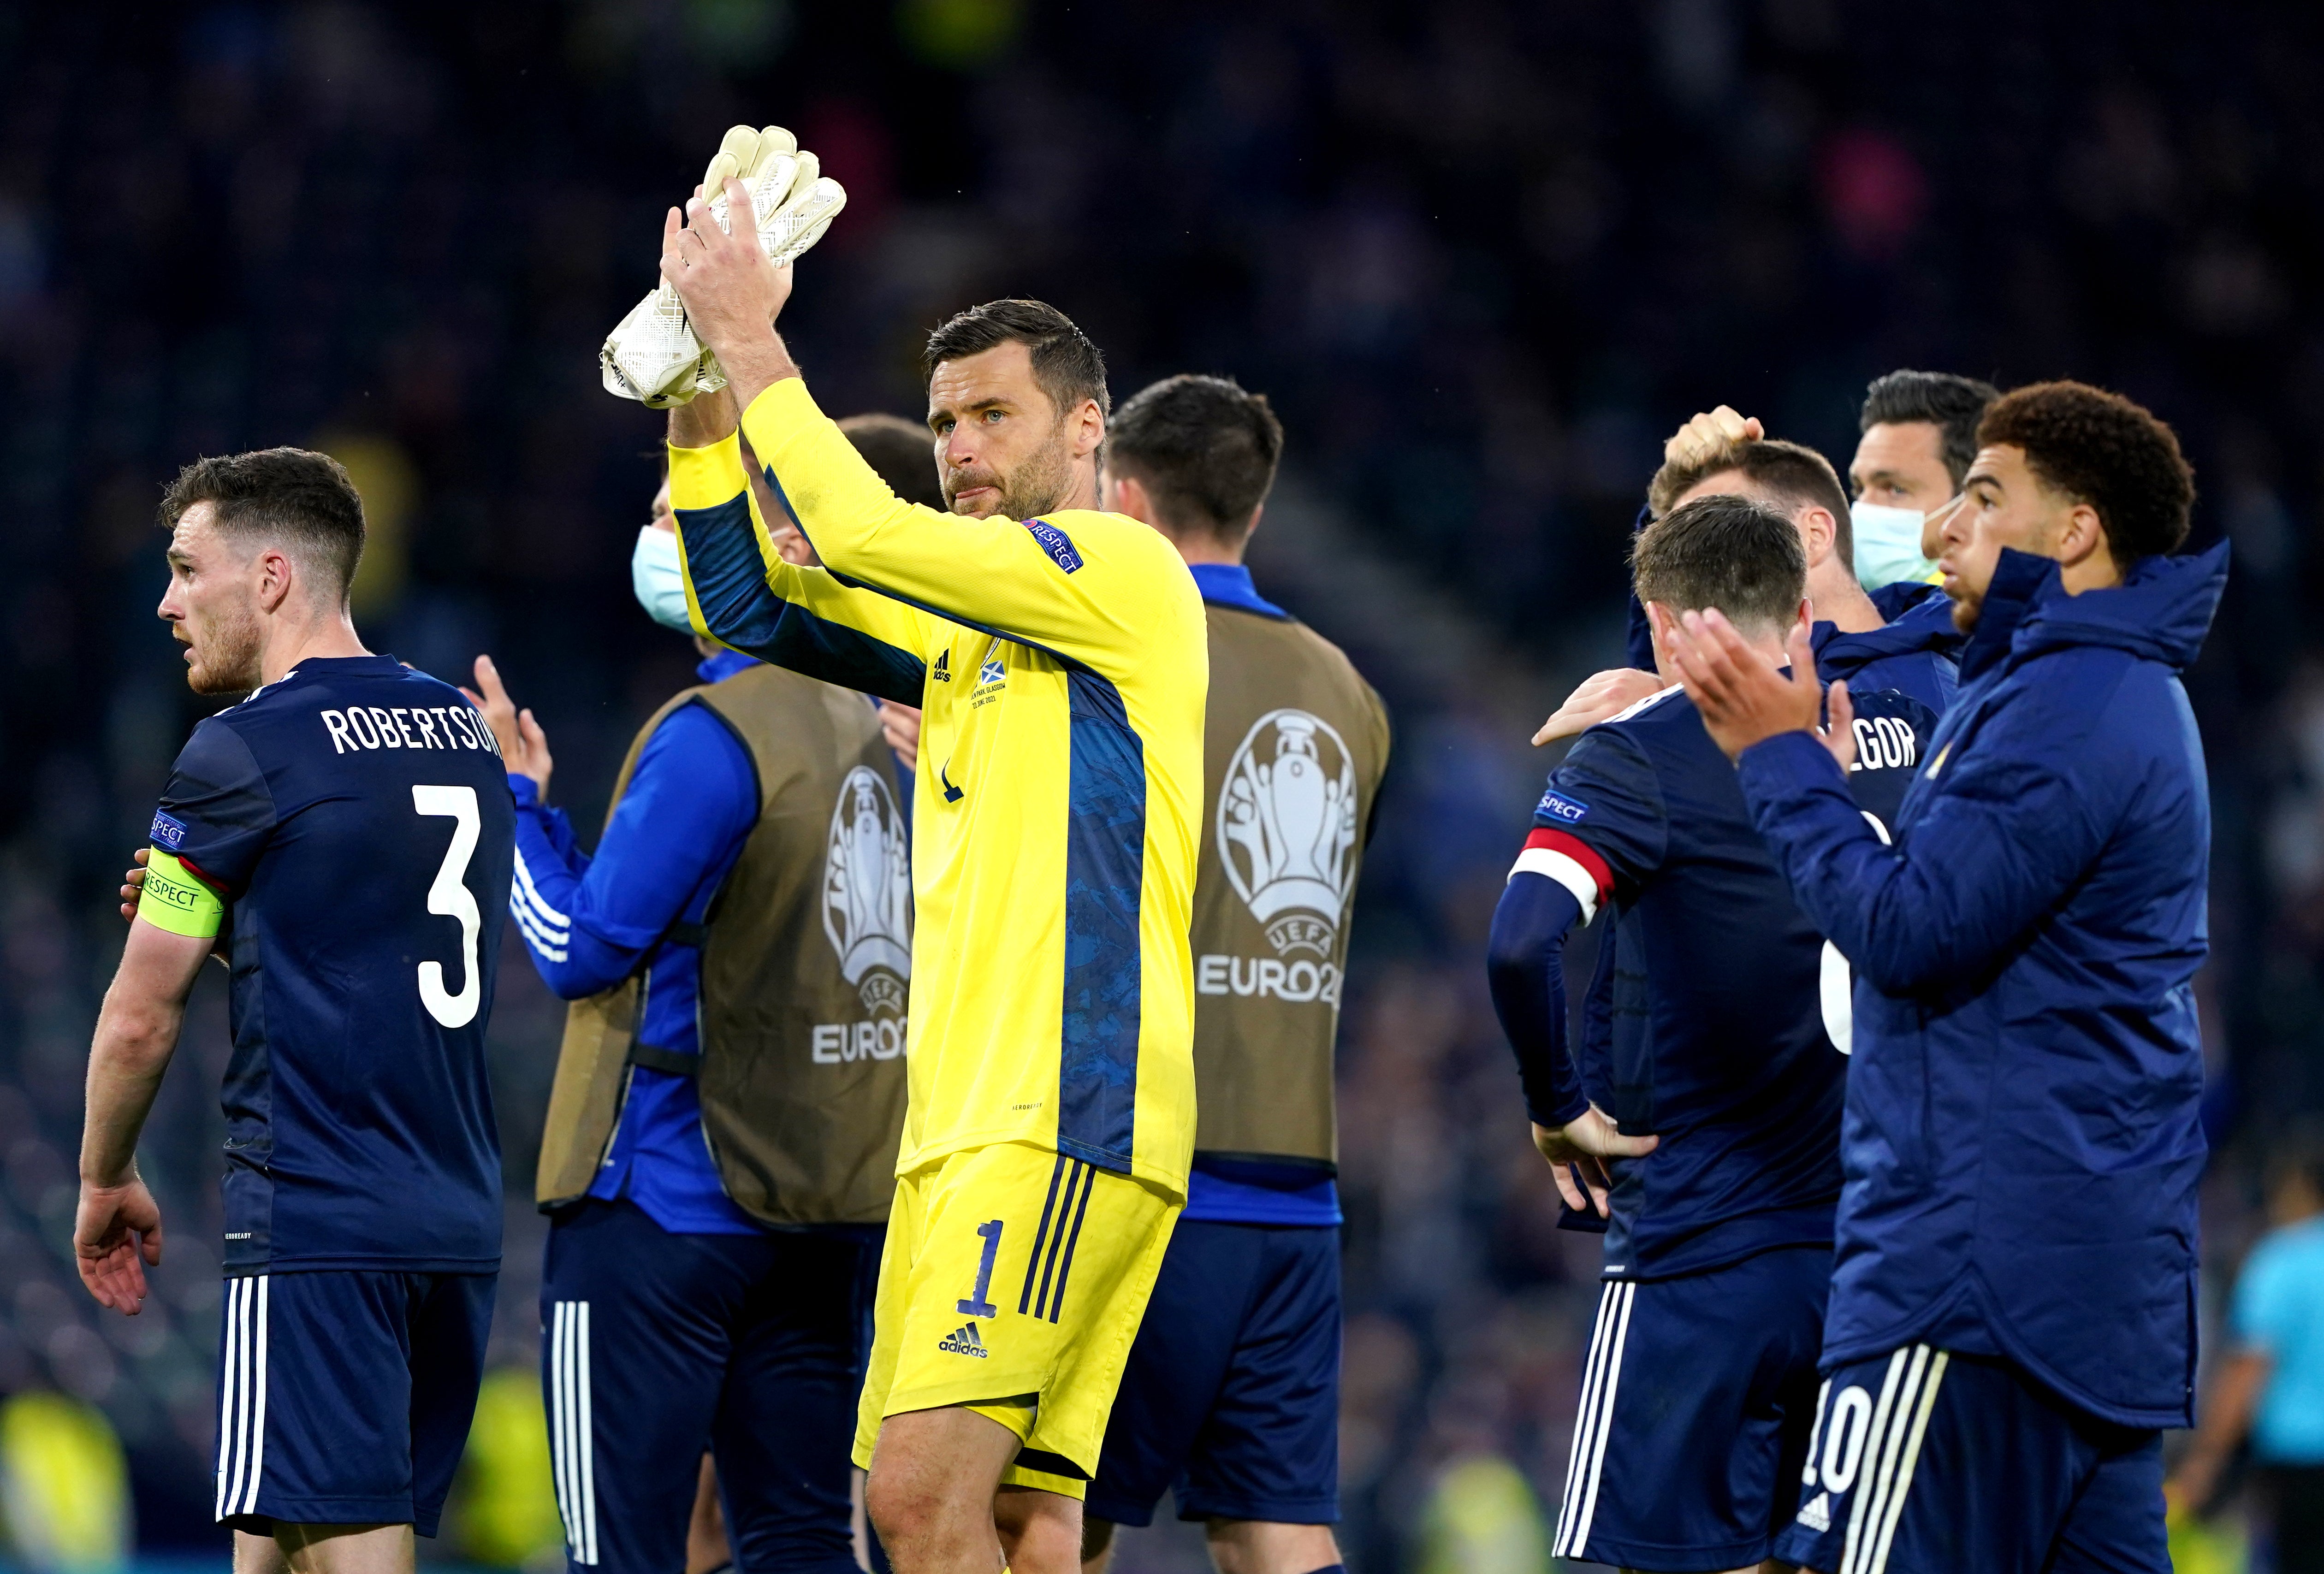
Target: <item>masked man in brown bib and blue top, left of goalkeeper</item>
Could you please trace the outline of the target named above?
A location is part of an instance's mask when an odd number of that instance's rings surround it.
[[[937,493],[909,423],[848,435]],[[667,486],[630,579],[686,632]],[[690,1521],[716,1523],[711,1453],[734,1562],[848,1574],[904,1114],[909,777],[862,695],[700,644],[702,684],[639,730],[595,853],[544,802],[546,732],[476,660],[518,807],[509,909],[574,1002],[537,1179],[558,1507],[576,1567],[681,1567]]]

